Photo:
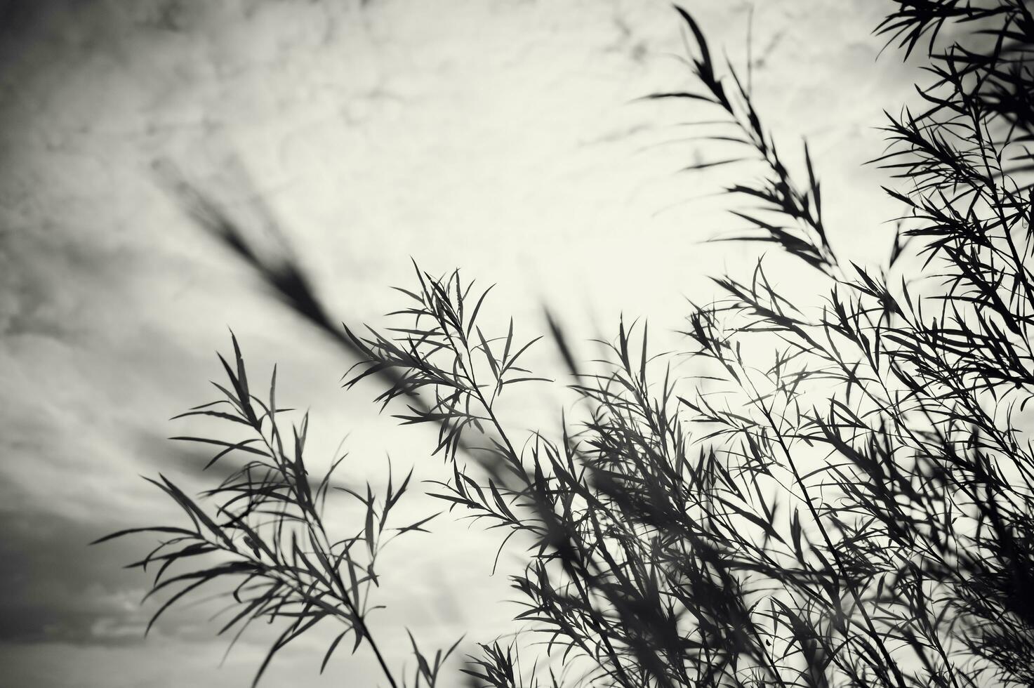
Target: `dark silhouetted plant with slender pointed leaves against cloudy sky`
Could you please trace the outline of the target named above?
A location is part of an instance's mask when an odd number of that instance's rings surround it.
[[[458,271],[417,268],[396,326],[334,330],[360,357],[347,387],[374,377],[387,384],[382,408],[437,427],[432,453],[452,475],[434,496],[530,543],[512,579],[522,632],[480,646],[464,669],[475,685],[1034,684],[1034,449],[1022,437],[1034,385],[1024,178],[1034,19],[1021,0],[894,5],[878,32],[906,54],[926,44],[933,80],[918,87],[923,112],[888,115],[889,147],[875,160],[902,180],[886,189],[903,206],[887,265],[845,264],[833,251],[807,146],[799,180],[749,86],[679,9],[695,86],[650,97],[712,111],[706,125],[719,128],[707,136],[743,151],[720,162],[761,173],[727,189],[757,205],[733,211],[751,231],[737,238],[816,268],[821,303],[791,302],[759,262],[749,277],[717,278],[725,296],[692,308],[685,351],[651,353],[646,325],[621,322],[590,364],[549,317],[582,400],[558,437],[503,418],[500,394],[543,384],[520,365],[535,340],[519,339],[513,321],[506,334],[483,331],[488,292]],[[939,39],[949,25],[954,37]],[[332,330],[290,261],[269,269],[232,225],[211,227]],[[330,652],[351,634],[354,651],[365,641],[387,682],[401,685],[364,620],[388,513],[408,479],[381,498],[348,492],[365,520],[351,537],[328,535],[326,479],[312,486],[304,468],[305,422],[280,429],[273,386],[260,401],[234,347],[230,386],[219,387],[227,410],[191,413],[249,437],[185,438],[217,445],[213,461],[247,454],[207,493],[215,515],[162,478],[192,528],[116,534],[169,535],[141,562],[159,567],[155,591],[181,586],[156,617],[206,582],[240,578],[224,630],[280,619],[272,656],[335,621]],[[700,378],[675,373],[687,354]],[[217,561],[165,577],[194,557]],[[432,662],[413,649],[414,685],[445,681],[451,650]],[[550,658],[566,660],[558,675]]]

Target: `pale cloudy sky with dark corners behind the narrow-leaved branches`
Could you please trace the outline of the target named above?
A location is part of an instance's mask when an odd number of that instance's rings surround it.
[[[750,34],[757,102],[790,159],[808,140],[831,243],[884,260],[895,209],[863,162],[914,77],[872,35],[887,3],[685,5],[734,64]],[[688,86],[680,31],[653,0],[0,2],[0,683],[250,683],[268,636],[221,668],[200,609],[145,639],[147,580],[121,569],[145,543],[86,544],[175,517],[142,475],[203,484],[204,457],[164,438],[210,399],[229,328],[311,410],[316,455],[347,436],[345,480],[383,479],[389,454],[440,471],[431,435],[378,415],[374,386],[342,390],[354,361],[206,235],[161,170],[263,245],[277,228],[339,320],[382,323],[412,258],[497,283],[490,318],[527,338],[545,303],[578,341],[624,313],[677,346],[687,299],[759,256],[706,241],[737,227],[725,173],[678,172],[720,154],[685,124],[700,111],[638,99]],[[817,283],[783,275],[804,295]],[[558,366],[544,346],[531,360]],[[555,422],[565,398],[550,401],[517,422]],[[421,537],[384,564],[393,661],[403,624],[429,645],[512,630],[485,556],[497,537],[448,519]],[[374,685],[362,652],[321,678],[324,640],[286,650],[264,685]]]

